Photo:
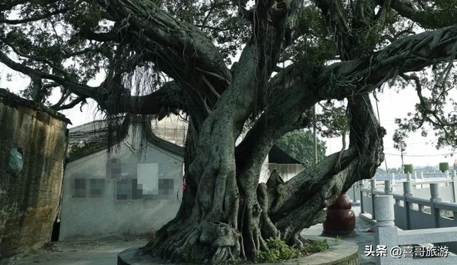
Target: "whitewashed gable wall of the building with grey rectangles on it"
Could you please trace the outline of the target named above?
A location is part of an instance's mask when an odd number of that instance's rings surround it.
[[[102,150],[68,163],[59,240],[151,237],[175,217],[181,199],[183,158],[149,143],[139,152],[144,144],[138,140],[139,133],[141,130],[130,128],[117,150]],[[116,159],[114,164],[112,159]],[[137,180],[140,184],[145,176],[154,183],[143,183],[141,198],[119,199],[119,181]],[[75,179],[86,180],[85,197],[75,193]],[[101,197],[91,196],[91,179],[104,183]],[[172,180],[170,189],[163,188],[164,180],[169,184]]]

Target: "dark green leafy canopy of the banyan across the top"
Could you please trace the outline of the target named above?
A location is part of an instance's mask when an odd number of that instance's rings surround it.
[[[126,76],[141,76],[144,72],[157,70],[158,58],[155,52],[158,47],[145,49],[141,41],[141,36],[144,34],[142,31],[135,37],[129,35],[128,33],[135,31],[136,26],[131,24],[130,17],[124,17],[121,14],[119,17],[113,16],[109,11],[104,10],[109,2],[111,1],[1,0],[0,19],[19,19],[23,22],[0,24],[0,51],[14,55],[14,58],[23,66],[31,67],[46,75],[59,76],[71,83],[89,85],[96,76],[110,73],[115,74],[116,79],[124,80],[124,85],[131,84],[131,80]],[[252,24],[253,21],[251,21],[253,16],[251,11],[254,10],[252,4],[256,1],[138,2],[154,2],[159,9],[166,11],[171,17],[193,25],[192,28],[194,26],[198,28],[219,48],[227,66],[246,43],[256,40],[253,38],[256,24]],[[457,17],[455,0],[408,1],[406,9],[405,6],[402,8],[408,10],[406,12],[408,15],[395,10],[395,6],[406,1],[398,1],[395,5],[391,4],[391,1],[341,1],[341,8],[331,8],[328,14],[323,14],[323,10],[316,3],[336,1],[303,1],[296,4],[294,1],[278,1],[276,4],[279,2],[290,4],[288,13],[291,14],[286,21],[288,30],[283,36],[281,35],[284,49],[279,55],[281,57],[279,64],[295,63],[300,70],[294,75],[306,76],[303,80],[311,80],[310,83],[313,81],[309,76],[316,76],[316,73],[321,71],[321,67],[338,61],[338,56],[342,56],[343,53],[370,56],[399,38],[415,34],[418,26],[425,29],[451,26],[455,24],[453,18]],[[414,12],[410,14],[410,11]],[[333,12],[336,13],[333,14]],[[373,16],[375,13],[376,16]],[[44,16],[46,14],[54,15]],[[41,16],[43,19],[38,19]],[[326,21],[332,17],[333,20],[336,19],[334,22],[340,25]],[[273,17],[268,20],[274,24]],[[341,24],[344,26],[341,27]],[[338,26],[340,26],[339,29]],[[120,36],[119,39],[102,38],[97,41],[90,36],[90,33],[102,36],[105,33],[109,33],[107,35],[120,33]],[[351,51],[343,51],[342,48],[349,48]],[[404,142],[404,135],[408,133],[421,130],[425,136],[430,128],[424,128],[423,125],[430,125],[435,131],[436,147],[457,148],[457,103],[454,100],[455,94],[451,94],[453,92],[451,88],[456,88],[457,75],[453,67],[448,67],[452,66],[448,65],[449,60],[445,61],[445,63],[433,65],[432,75],[429,74],[430,71],[414,73],[419,78],[422,89],[427,93],[423,93],[423,100],[416,105],[415,112],[409,113],[408,118],[404,120],[398,120],[403,133],[398,133],[394,139],[397,149],[406,147],[406,145],[400,145],[399,141],[403,139]],[[411,79],[402,80],[402,73],[396,76],[398,78],[393,80],[397,81],[392,82],[391,86],[401,83],[406,87],[408,83],[413,83]],[[31,84],[24,88],[21,95],[26,98],[41,95],[36,100],[46,103],[46,98],[49,98],[51,89],[54,87],[49,86],[52,82],[47,78],[41,79],[43,79],[43,85],[48,85],[47,88],[39,90],[38,85]],[[109,78],[109,80],[114,79]],[[151,78],[145,75],[145,80],[148,79]],[[149,93],[151,91],[148,89],[154,90],[160,83],[155,80],[142,83],[144,91],[141,92]],[[108,87],[113,84],[103,85]],[[116,85],[118,84],[115,83],[114,86]],[[64,93],[68,92],[66,90],[68,88],[60,89]],[[126,91],[126,93],[130,92]],[[447,109],[444,107],[450,105],[453,110],[450,113],[444,113],[443,110]],[[451,110],[451,108],[448,109]],[[318,128],[321,135],[334,137],[346,128],[344,108],[331,106],[328,110],[318,117]]]

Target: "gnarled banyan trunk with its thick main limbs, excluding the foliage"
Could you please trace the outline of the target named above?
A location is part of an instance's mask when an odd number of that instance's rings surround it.
[[[348,104],[348,150],[327,157],[289,182],[284,183],[273,172],[266,184],[258,184],[262,162],[274,142],[284,133],[302,128],[310,108],[319,100],[328,99],[325,93],[334,86],[320,79],[293,80],[288,84],[293,87],[288,93],[281,89],[265,93],[272,69],[285,47],[287,16],[292,13],[284,4],[259,2],[253,38],[243,48],[238,64],[229,71],[203,35],[188,34],[191,27],[166,16],[151,2],[114,3],[108,9],[112,16],[135,14],[131,16],[131,33],[146,28],[144,32],[150,36],[144,39],[147,45],[160,43],[168,47],[159,50],[163,52],[159,57],[168,58],[169,48],[180,54],[172,56],[170,63],[159,61],[162,71],[177,82],[189,83],[204,105],[206,100],[215,103],[206,106],[207,115],[201,115],[201,111],[199,115],[188,113],[192,128],[186,143],[183,202],[176,218],[144,247],[146,254],[176,262],[224,264],[238,259],[253,261],[258,251],[267,249],[265,239],[269,237],[301,246],[299,233],[303,228],[321,222],[323,209],[353,182],[374,175],[383,159],[383,130],[368,96],[354,95]],[[148,9],[155,10],[156,16],[144,11]],[[155,29],[164,24],[172,25],[173,32],[179,34],[158,34]],[[176,61],[181,60],[181,54],[184,61],[203,71],[176,74],[182,71],[181,61]],[[307,71],[301,74],[313,76],[317,69]],[[263,113],[246,136],[248,140],[236,147],[246,119],[260,113],[258,106]],[[252,139],[255,140],[250,142]]]

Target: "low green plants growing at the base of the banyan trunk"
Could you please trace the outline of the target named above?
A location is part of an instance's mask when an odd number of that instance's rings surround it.
[[[326,240],[309,241],[303,245],[301,249],[295,249],[288,246],[281,239],[266,239],[267,251],[259,251],[257,261],[259,262],[281,262],[287,259],[293,259],[298,256],[307,256],[312,253],[317,253],[328,249]]]

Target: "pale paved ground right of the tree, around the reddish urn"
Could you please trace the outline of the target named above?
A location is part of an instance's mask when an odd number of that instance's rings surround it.
[[[365,246],[372,245],[373,249],[376,249],[374,233],[363,232],[363,231],[366,231],[366,229],[374,228],[374,227],[370,223],[368,223],[365,220],[358,217],[358,214],[360,213],[360,206],[353,206],[352,209],[353,209],[354,213],[356,214],[356,234],[352,237],[341,237],[341,239],[346,240],[346,241],[351,241],[353,243],[358,244],[358,259],[359,259],[361,265],[376,264],[373,256],[367,257],[364,254]],[[306,235],[316,236],[316,235],[322,234],[322,230],[323,230],[322,224],[316,224],[313,227],[304,229],[301,232],[301,235],[303,237],[306,237]]]

